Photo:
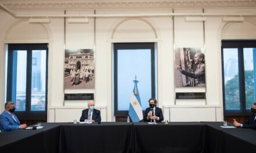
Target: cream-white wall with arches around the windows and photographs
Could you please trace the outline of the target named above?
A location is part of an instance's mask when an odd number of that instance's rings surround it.
[[[143,11],[143,10],[140,10]],[[205,10],[206,12],[255,12],[255,10]],[[115,10],[115,13],[123,13]],[[97,13],[113,13],[98,10]],[[156,12],[161,12],[157,10]],[[175,12],[201,12],[175,10]],[[33,13],[33,12],[32,12]],[[49,13],[49,12],[48,12]],[[76,12],[71,12],[76,13]],[[88,11],[87,13],[93,13]],[[133,13],[126,10],[125,13]],[[154,13],[154,12],[151,12]],[[208,17],[205,22],[206,88],[175,89],[173,69],[173,27],[171,17],[110,17],[96,19],[95,33],[95,89],[64,90],[64,20],[51,19],[49,24],[29,24],[27,19],[15,19],[0,11],[0,110],[5,101],[5,48],[13,42],[48,42],[48,121],[67,122],[80,118],[87,101],[63,101],[64,93],[95,93],[96,107],[102,109],[102,121],[113,119],[112,43],[157,42],[158,44],[158,101],[169,121],[222,121],[221,39],[256,39],[256,19],[243,23],[224,23],[222,17]],[[30,28],[24,34],[24,25]],[[38,30],[38,27],[40,30]],[[31,30],[31,31],[30,31]],[[30,33],[35,31],[34,33]],[[202,22],[186,22],[175,17],[175,47],[203,47]],[[19,37],[17,37],[19,36]],[[94,19],[88,24],[66,24],[66,49],[94,48]],[[175,92],[206,92],[205,100],[176,100]],[[150,98],[150,97],[149,97]],[[63,115],[65,114],[65,115]],[[189,115],[190,118],[187,118]]]

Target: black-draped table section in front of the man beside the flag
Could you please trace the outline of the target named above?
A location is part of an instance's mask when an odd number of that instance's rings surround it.
[[[134,123],[134,152],[204,152],[200,122]]]

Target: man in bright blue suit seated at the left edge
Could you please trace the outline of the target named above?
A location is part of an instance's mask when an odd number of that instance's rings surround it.
[[[5,133],[16,129],[25,129],[26,124],[20,125],[20,121],[13,112],[15,111],[15,106],[12,101],[7,101],[5,103],[5,111],[0,115],[0,130],[1,133]]]

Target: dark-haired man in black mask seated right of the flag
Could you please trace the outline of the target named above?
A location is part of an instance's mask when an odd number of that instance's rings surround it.
[[[162,109],[157,107],[157,100],[151,98],[148,100],[150,107],[146,108],[143,119],[145,122],[162,122]]]

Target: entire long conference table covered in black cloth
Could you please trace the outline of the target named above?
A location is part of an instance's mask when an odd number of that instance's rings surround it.
[[[256,152],[256,130],[222,124],[42,123],[42,129],[0,134],[0,152]]]

